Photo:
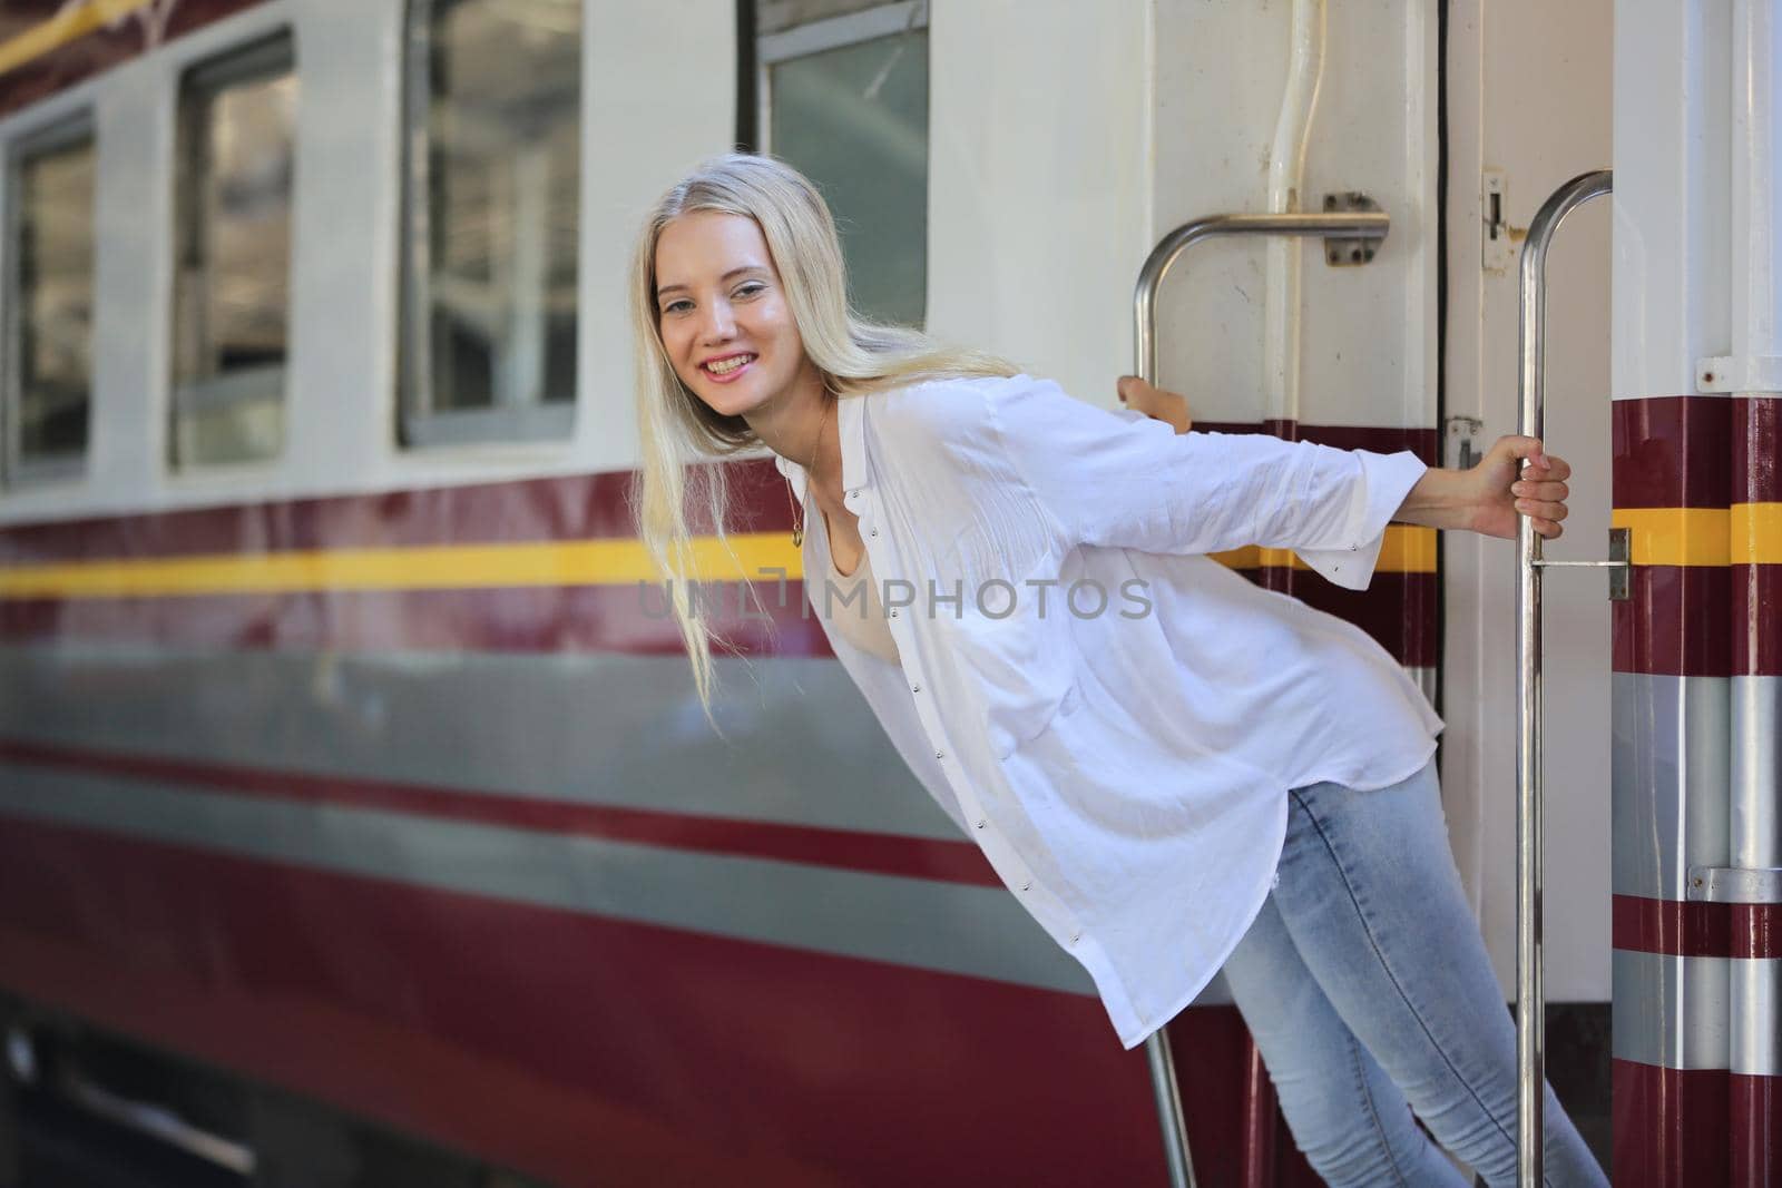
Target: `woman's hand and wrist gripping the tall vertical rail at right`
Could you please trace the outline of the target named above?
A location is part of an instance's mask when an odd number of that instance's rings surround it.
[[[1543,452],[1540,438],[1502,436],[1472,470],[1431,467],[1394,518],[1515,540],[1516,517],[1525,515],[1538,534],[1554,540],[1565,531],[1568,477],[1572,467]]]

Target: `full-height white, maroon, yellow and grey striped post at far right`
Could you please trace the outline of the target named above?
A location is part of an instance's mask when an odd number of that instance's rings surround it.
[[[1614,28],[1614,1183],[1778,1183],[1773,0]]]

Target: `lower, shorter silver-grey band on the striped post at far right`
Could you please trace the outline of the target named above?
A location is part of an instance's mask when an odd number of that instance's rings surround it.
[[[1725,1069],[1729,964],[1723,956],[1614,949],[1609,1033],[1616,1060]]]

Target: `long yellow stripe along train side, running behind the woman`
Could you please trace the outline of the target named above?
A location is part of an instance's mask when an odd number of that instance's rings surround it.
[[[1379,572],[1435,572],[1435,531],[1392,527]],[[702,582],[804,577],[788,533],[731,536],[732,559],[716,536],[693,541]],[[1288,565],[1283,549],[1238,549],[1215,557],[1233,568]],[[636,540],[531,541],[515,545],[417,545],[264,554],[207,554],[0,566],[0,598],[168,598],[196,595],[298,593],[315,590],[494,590],[504,586],[629,586],[656,582]]]

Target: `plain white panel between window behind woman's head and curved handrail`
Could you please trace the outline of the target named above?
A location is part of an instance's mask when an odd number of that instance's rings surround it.
[[[1148,37],[1148,4],[939,4],[928,27],[928,330],[1103,406],[1151,248]]]

